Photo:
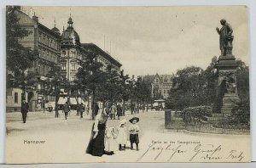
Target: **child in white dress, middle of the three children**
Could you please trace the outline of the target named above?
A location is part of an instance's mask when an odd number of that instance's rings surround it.
[[[125,150],[125,145],[127,142],[127,133],[126,133],[126,120],[119,121],[119,126],[117,128],[118,136],[117,142],[119,143],[119,150]]]

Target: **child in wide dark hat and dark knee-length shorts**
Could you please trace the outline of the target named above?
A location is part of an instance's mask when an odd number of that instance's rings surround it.
[[[139,150],[139,148],[138,148],[138,143],[139,143],[139,138],[138,138],[139,126],[137,125],[137,122],[139,121],[139,118],[133,117],[129,121],[131,122],[131,126],[129,127],[131,150],[134,150],[133,149],[133,143],[135,143],[136,144],[136,149],[138,151]]]

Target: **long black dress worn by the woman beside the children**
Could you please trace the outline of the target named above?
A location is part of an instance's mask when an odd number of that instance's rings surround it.
[[[93,132],[95,124],[92,126],[91,130],[91,136],[90,136],[90,142],[88,144],[88,147],[86,148],[86,154],[91,154],[93,156],[102,156],[104,154],[104,137],[105,137],[105,129],[106,124],[98,124],[98,135],[95,139],[93,139],[93,136],[95,135],[95,132]]]

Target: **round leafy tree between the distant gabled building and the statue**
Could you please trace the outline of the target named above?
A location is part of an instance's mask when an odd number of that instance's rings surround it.
[[[166,100],[166,107],[181,110],[205,103],[206,83],[206,77],[200,67],[190,66],[177,70],[173,88],[169,91],[170,96]]]

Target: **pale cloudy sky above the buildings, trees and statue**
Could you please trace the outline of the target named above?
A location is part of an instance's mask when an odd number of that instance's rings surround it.
[[[130,76],[172,75],[195,65],[207,68],[219,56],[216,27],[233,28],[233,54],[249,64],[246,6],[25,7],[39,22],[62,32],[69,15],[80,42],[95,43],[119,60]],[[104,37],[105,36],[105,37]],[[104,40],[105,39],[105,40]]]

